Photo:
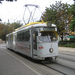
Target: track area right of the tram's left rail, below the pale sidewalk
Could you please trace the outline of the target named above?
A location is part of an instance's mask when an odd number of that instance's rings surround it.
[[[63,75],[75,75],[75,60],[74,55],[59,54],[58,61],[52,62],[51,64],[43,64],[49,69],[53,69]]]

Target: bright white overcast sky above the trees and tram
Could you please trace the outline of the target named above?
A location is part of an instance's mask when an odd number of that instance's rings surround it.
[[[41,12],[45,11],[46,7],[49,7],[52,4],[55,4],[55,1],[62,1],[62,3],[74,4],[73,0],[17,0],[16,2],[7,2],[6,0],[2,1],[0,4],[0,18],[2,22],[17,22],[20,21],[23,23],[23,17],[25,21],[28,19],[28,9],[26,8],[26,13],[24,15],[24,10],[26,4],[35,4],[39,6],[39,9],[36,9],[36,19],[40,18]],[[30,11],[34,10],[34,7],[29,7]],[[41,12],[40,12],[40,11]],[[39,11],[39,12],[38,12]],[[35,19],[35,20],[36,20]]]

